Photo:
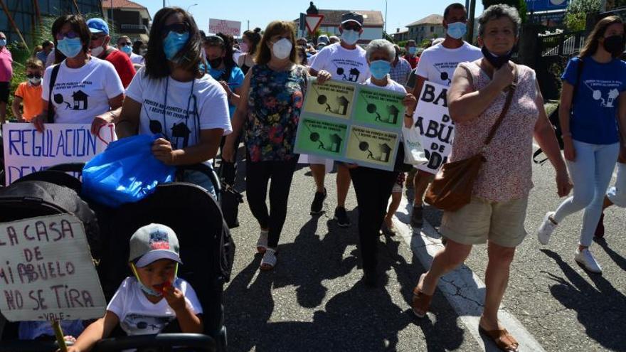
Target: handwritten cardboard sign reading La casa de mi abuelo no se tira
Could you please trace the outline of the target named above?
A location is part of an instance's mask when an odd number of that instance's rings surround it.
[[[107,303],[73,215],[0,224],[0,311],[9,321],[98,318]]]

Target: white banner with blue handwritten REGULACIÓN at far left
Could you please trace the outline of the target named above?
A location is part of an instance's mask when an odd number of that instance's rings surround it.
[[[97,135],[90,124],[2,124],[6,185],[16,179],[65,163],[85,163],[117,139],[115,124],[105,124]]]

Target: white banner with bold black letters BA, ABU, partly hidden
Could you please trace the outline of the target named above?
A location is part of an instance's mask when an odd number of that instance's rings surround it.
[[[413,114],[413,122],[422,136],[428,159],[428,164],[415,167],[430,174],[437,174],[447,161],[455,137],[455,124],[447,111],[447,89],[445,85],[425,81]]]

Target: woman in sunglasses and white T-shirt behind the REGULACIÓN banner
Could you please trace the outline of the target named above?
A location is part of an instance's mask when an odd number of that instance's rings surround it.
[[[91,124],[97,134],[103,124],[112,122],[112,110],[122,106],[124,87],[113,65],[87,54],[91,33],[79,15],[60,16],[52,24],[56,65],[43,75],[43,112],[31,122],[43,131],[48,122],[48,100],[54,122]],[[58,74],[50,90],[53,70]]]

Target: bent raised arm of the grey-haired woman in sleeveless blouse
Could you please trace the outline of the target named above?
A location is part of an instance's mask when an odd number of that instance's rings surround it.
[[[502,66],[494,72],[489,84],[476,91],[472,89],[470,79],[465,68],[457,67],[447,92],[447,107],[454,122],[472,121],[482,114],[504,87],[513,82],[513,72],[509,65]]]

